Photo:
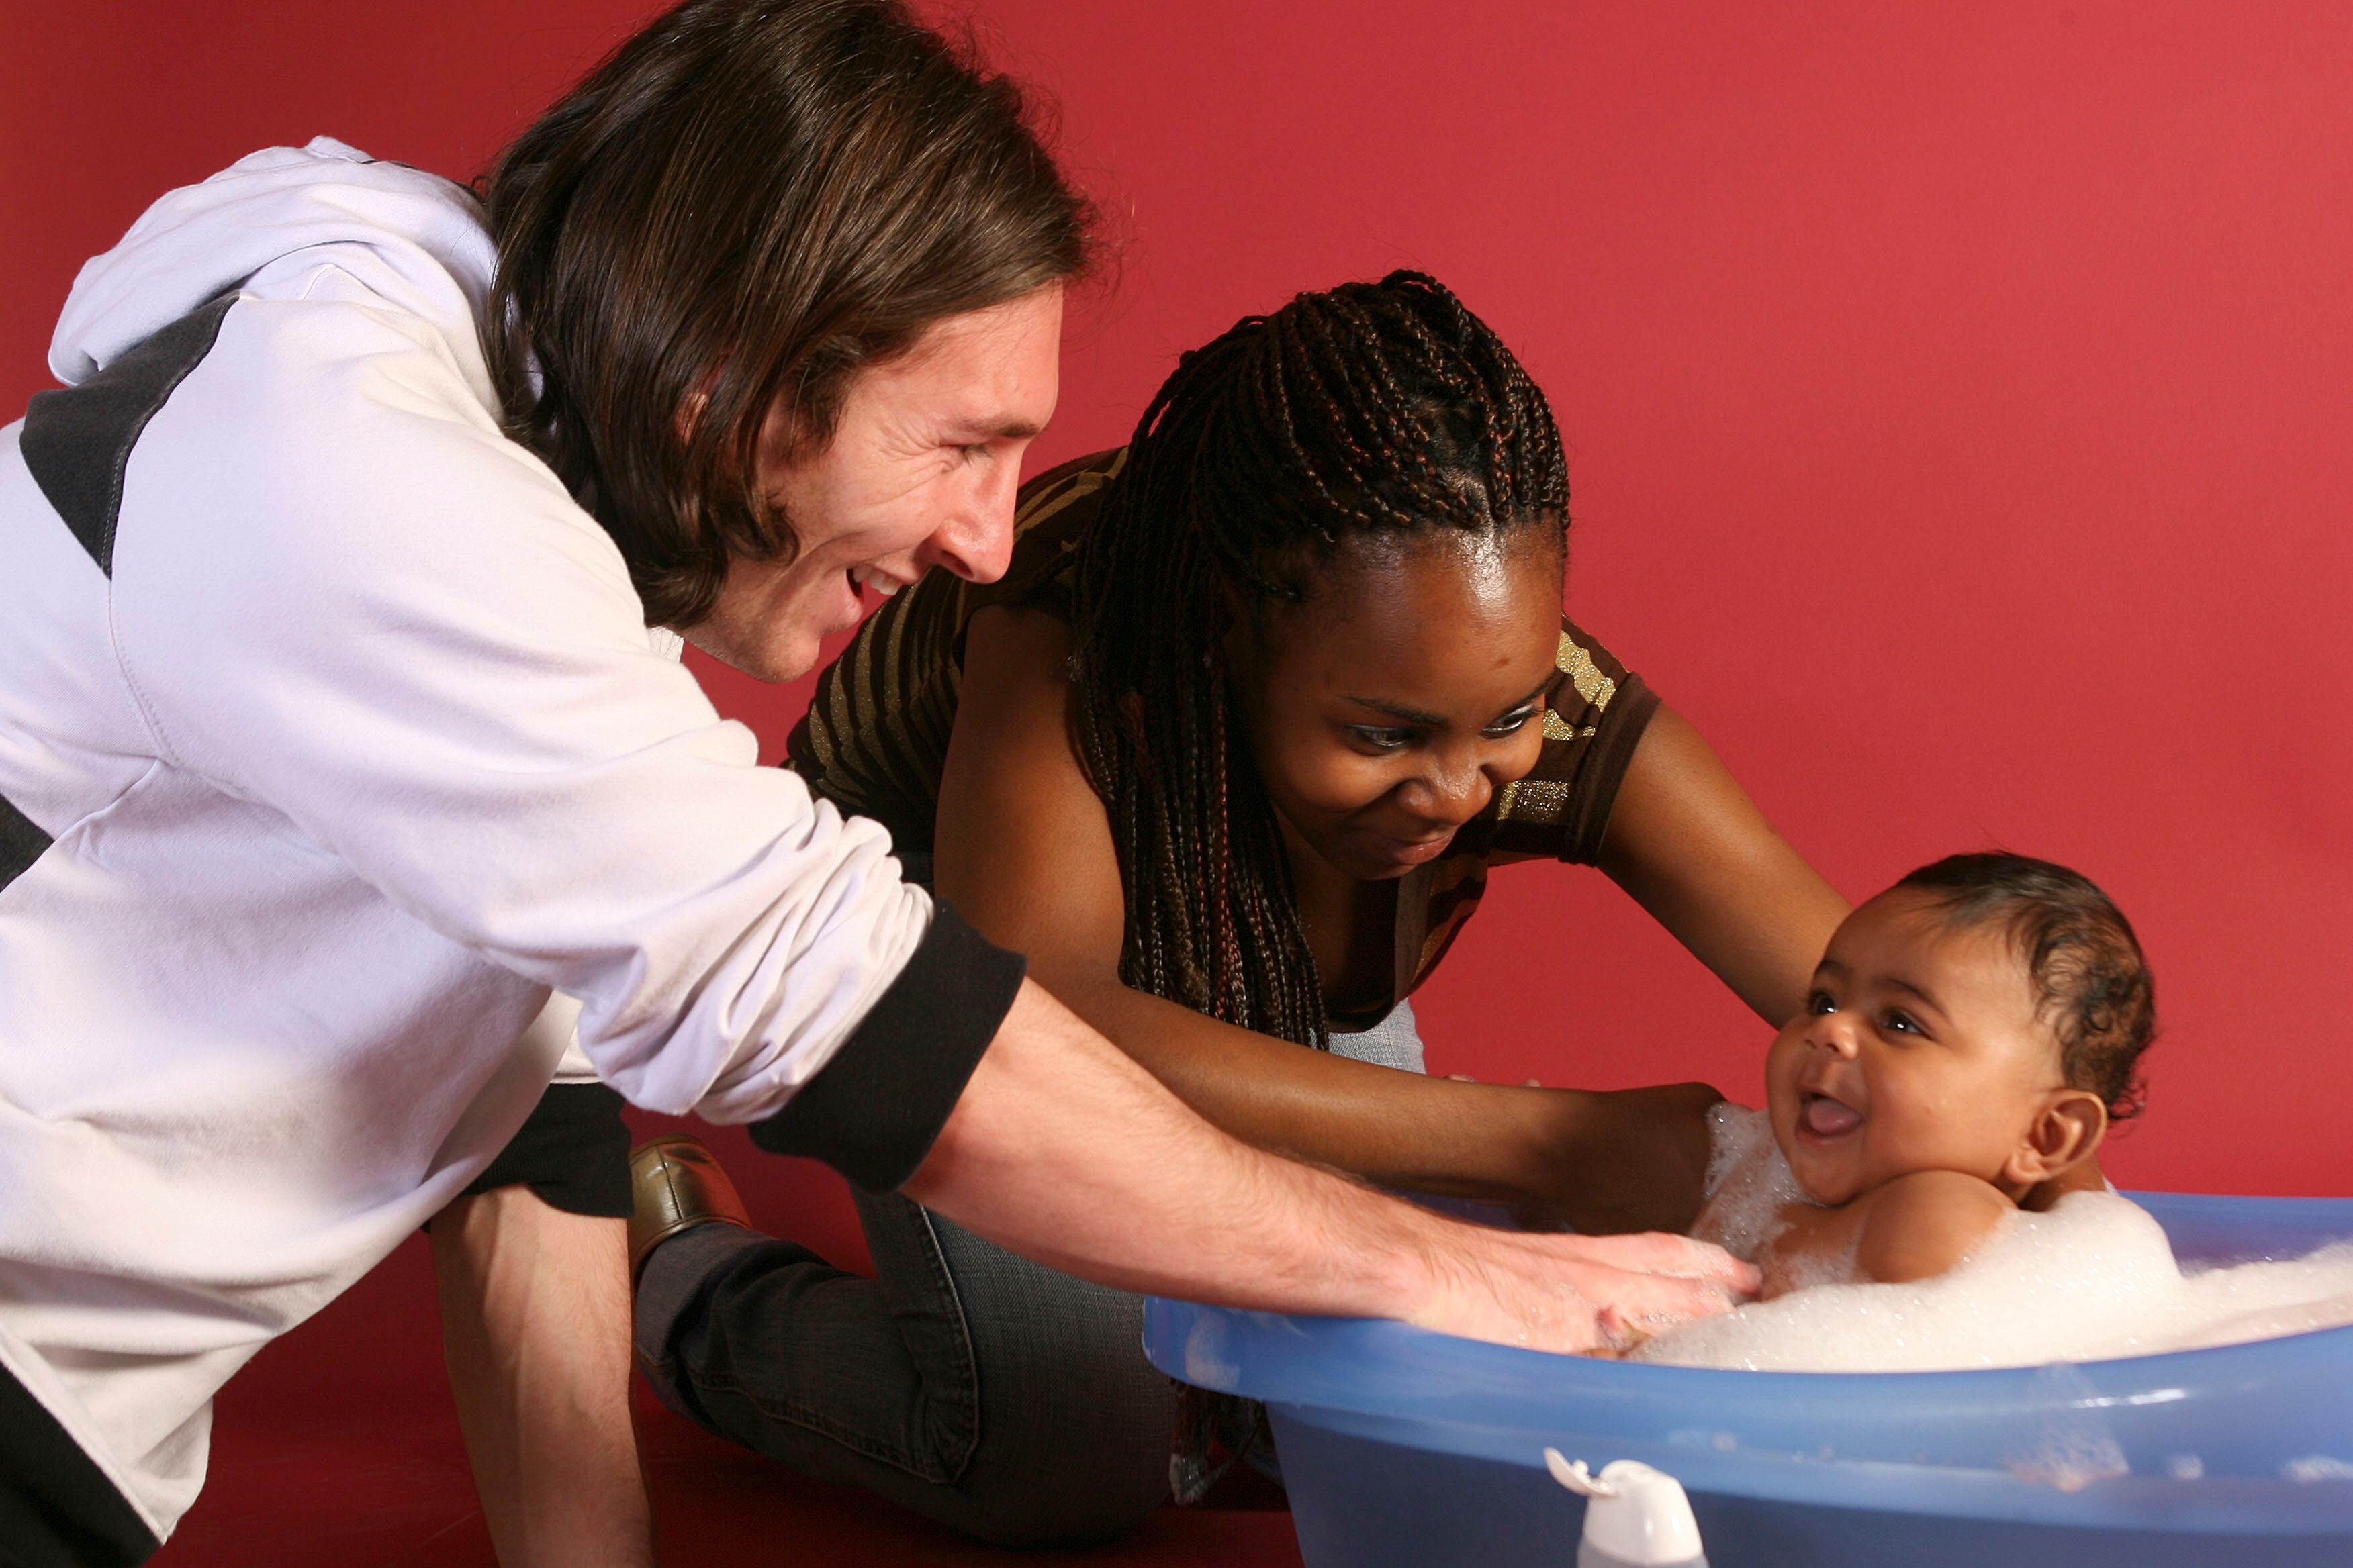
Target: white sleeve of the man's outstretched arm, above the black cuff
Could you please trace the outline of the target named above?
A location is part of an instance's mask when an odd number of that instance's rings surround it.
[[[576,997],[638,1105],[772,1114],[932,922],[880,825],[649,649],[614,543],[398,313],[228,313],[132,456],[115,621],[169,762]]]

